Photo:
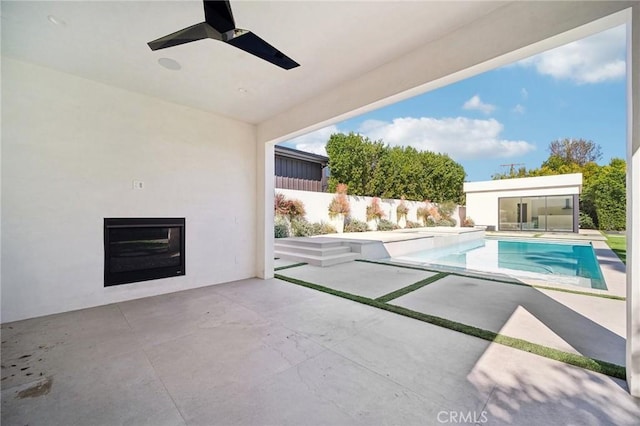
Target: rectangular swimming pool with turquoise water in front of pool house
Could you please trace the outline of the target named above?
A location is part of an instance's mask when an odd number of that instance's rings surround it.
[[[593,247],[588,243],[486,238],[394,260],[445,270],[497,273],[548,284],[607,289]]]

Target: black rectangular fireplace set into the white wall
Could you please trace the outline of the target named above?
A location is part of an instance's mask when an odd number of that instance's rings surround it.
[[[185,275],[184,218],[105,218],[104,285]]]

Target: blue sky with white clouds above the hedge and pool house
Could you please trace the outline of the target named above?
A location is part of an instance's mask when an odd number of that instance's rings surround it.
[[[467,181],[502,164],[539,167],[555,139],[584,138],[601,164],[625,158],[625,27],[549,50],[441,89],[298,137],[283,145],[326,154],[335,132],[447,153]]]

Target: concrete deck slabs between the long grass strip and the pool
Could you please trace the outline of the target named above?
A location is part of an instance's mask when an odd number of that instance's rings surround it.
[[[435,273],[352,262],[277,271],[289,278],[379,298]],[[389,303],[617,365],[625,364],[625,301],[448,275]]]

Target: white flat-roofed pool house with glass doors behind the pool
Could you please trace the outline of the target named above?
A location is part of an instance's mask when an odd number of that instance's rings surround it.
[[[582,173],[466,182],[467,216],[488,230],[578,232]]]

